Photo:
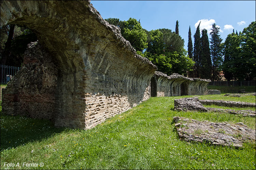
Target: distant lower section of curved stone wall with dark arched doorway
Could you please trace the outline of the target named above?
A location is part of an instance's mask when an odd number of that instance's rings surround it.
[[[184,96],[203,95],[207,85],[211,80],[199,78],[187,78],[174,73],[170,76],[156,71],[156,91],[157,96]]]

